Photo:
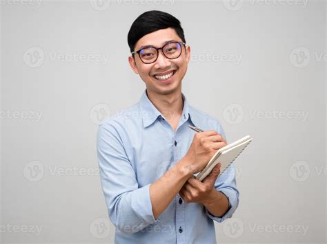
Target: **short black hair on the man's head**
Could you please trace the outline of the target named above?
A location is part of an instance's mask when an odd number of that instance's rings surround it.
[[[128,32],[127,41],[130,46],[130,52],[134,51],[137,41],[146,34],[169,27],[172,27],[181,38],[181,41],[186,43],[181,22],[174,16],[158,10],[143,12],[135,19]]]

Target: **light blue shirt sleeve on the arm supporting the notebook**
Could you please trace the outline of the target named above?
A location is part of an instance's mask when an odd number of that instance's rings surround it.
[[[226,135],[224,129],[218,123],[217,125],[217,132],[224,137],[226,140]],[[235,179],[235,165],[231,164],[223,174],[217,178],[215,182],[215,188],[219,192],[226,195],[228,199],[228,210],[222,217],[215,217],[214,215],[210,214],[210,212],[205,208],[207,216],[219,223],[232,217],[232,214],[235,212],[237,207],[239,206],[239,190],[237,189],[236,179]]]

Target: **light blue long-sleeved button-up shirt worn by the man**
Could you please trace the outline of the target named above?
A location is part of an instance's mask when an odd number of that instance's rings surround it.
[[[223,217],[215,217],[201,203],[185,203],[179,194],[155,219],[150,184],[186,155],[195,131],[215,130],[225,139],[221,124],[188,105],[174,131],[143,92],[139,102],[101,122],[97,153],[101,186],[110,221],[116,227],[115,243],[216,243],[215,225],[232,217],[239,205],[235,168],[231,165],[215,182],[229,200]],[[197,175],[197,174],[195,174]]]

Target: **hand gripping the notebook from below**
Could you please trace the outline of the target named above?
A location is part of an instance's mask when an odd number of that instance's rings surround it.
[[[210,194],[215,190],[215,181],[220,173],[221,164],[217,164],[211,173],[201,182],[190,177],[179,191],[179,195],[186,203],[208,203]]]

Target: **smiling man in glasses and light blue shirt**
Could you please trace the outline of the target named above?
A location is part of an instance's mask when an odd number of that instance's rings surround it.
[[[181,93],[190,60],[179,20],[161,11],[130,27],[130,67],[146,84],[137,104],[99,126],[101,185],[115,243],[216,243],[215,225],[239,204],[235,168],[194,175],[226,145],[221,124]],[[188,125],[204,129],[195,133]]]

